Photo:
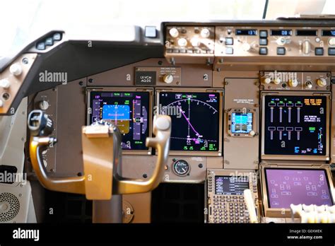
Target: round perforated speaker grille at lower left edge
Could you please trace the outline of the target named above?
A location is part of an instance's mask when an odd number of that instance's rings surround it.
[[[11,193],[0,193],[0,205],[8,206],[5,211],[0,210],[0,222],[11,221],[18,215],[20,210],[20,201]]]

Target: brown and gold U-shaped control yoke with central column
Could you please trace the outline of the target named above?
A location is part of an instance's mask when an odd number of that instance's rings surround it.
[[[146,139],[146,146],[158,151],[153,175],[148,180],[122,177],[121,134],[110,122],[95,122],[82,127],[83,170],[78,177],[49,177],[42,161],[42,151],[57,143],[49,136],[52,119],[42,110],[33,110],[28,116],[30,129],[30,159],[41,184],[58,192],[86,194],[87,199],[108,200],[112,194],[150,192],[163,178],[170,151],[171,118],[156,115],[153,119],[154,138]]]

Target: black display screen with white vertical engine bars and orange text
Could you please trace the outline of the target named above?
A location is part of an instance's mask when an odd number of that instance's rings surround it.
[[[266,95],[264,153],[325,156],[327,97]]]

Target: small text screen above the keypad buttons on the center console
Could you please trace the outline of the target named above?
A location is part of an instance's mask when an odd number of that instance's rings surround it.
[[[215,177],[215,194],[242,195],[245,189],[249,189],[249,177],[247,176]]]

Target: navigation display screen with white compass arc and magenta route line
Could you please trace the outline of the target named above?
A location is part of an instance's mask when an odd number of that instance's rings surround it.
[[[218,151],[220,93],[160,92],[160,114],[170,115],[171,151]]]

